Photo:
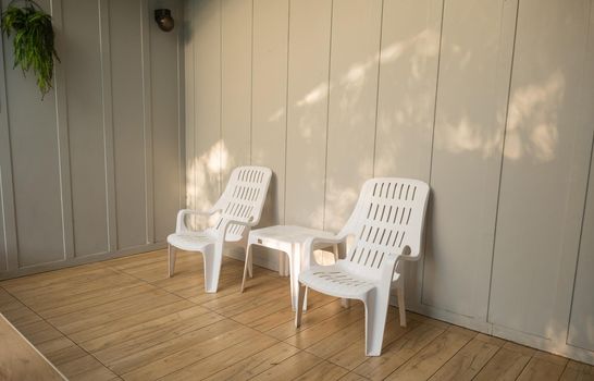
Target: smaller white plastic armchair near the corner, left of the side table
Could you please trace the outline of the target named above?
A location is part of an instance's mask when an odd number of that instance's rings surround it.
[[[223,250],[228,246],[246,249],[251,226],[260,221],[272,171],[264,167],[238,167],[231,173],[221,198],[207,211],[182,209],[175,233],[168,236],[169,276],[175,269],[175,250],[200,251],[205,258],[205,288],[215,293],[219,286]],[[219,213],[216,222],[205,231],[193,231],[186,216]],[[249,266],[251,274],[251,263]]]

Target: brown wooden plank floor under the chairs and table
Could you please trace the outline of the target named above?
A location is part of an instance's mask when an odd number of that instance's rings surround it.
[[[199,255],[164,250],[0,282],[0,311],[71,380],[594,380],[591,366],[391,308],[363,355],[361,304],[315,292],[296,330],[288,280],[225,258],[205,294]]]

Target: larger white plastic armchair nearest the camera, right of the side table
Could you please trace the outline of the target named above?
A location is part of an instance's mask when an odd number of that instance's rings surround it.
[[[363,184],[359,200],[334,238],[310,238],[306,253],[320,243],[338,244],[352,237],[346,258],[331,266],[312,266],[301,272],[295,325],[301,324],[305,287],[366,307],[366,355],[380,356],[393,285],[398,290],[400,323],[406,324],[404,281],[396,270],[399,259],[420,258],[429,185],[410,179],[372,179]],[[305,256],[306,258],[308,256]]]

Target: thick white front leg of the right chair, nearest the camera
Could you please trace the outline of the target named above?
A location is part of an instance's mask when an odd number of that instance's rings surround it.
[[[375,291],[378,292],[378,291]],[[366,305],[366,356],[380,356],[384,341],[387,315],[387,298],[376,297],[372,292]]]

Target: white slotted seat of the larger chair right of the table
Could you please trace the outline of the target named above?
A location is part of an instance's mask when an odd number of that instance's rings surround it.
[[[349,299],[362,299],[375,284],[343,269],[339,265],[313,266],[299,274],[299,281],[318,292]]]

